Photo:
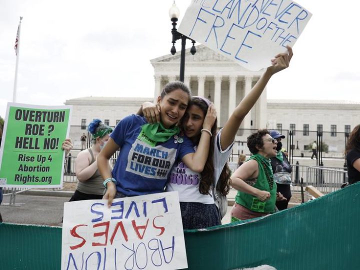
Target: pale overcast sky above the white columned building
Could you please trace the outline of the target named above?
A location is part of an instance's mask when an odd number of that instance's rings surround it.
[[[298,0],[312,17],[290,67],[271,78],[271,99],[360,101],[358,1]],[[177,0],[180,20],[189,0]],[[152,97],[149,59],[168,54],[172,0],[0,0],[0,115],[12,101],[61,105],[81,96]],[[180,42],[177,42],[180,50]]]

